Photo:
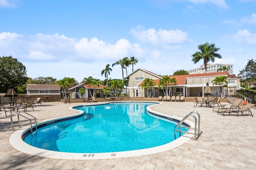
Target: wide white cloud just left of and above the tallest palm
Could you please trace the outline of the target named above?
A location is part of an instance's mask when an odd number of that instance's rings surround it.
[[[159,29],[158,31],[154,28],[149,28],[145,30],[144,27],[138,25],[135,29],[132,28],[130,31],[136,39],[144,43],[151,43],[154,46],[163,47],[176,45],[184,43],[188,40],[188,35],[186,32],[181,30],[163,30]]]

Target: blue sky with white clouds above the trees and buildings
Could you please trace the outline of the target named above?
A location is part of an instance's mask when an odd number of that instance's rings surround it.
[[[191,55],[205,42],[236,75],[256,58],[256,0],[0,0],[0,21],[0,56],[31,78],[103,80],[107,64],[131,56],[134,69],[172,75],[202,65]],[[120,65],[109,77],[122,79]]]

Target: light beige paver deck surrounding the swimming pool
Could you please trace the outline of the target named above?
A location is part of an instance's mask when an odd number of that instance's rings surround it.
[[[98,102],[99,103],[99,102]],[[103,102],[104,103],[104,102]],[[73,115],[68,107],[95,103],[43,103],[28,109],[38,122]],[[251,115],[217,115],[212,108],[193,107],[192,102],[162,102],[150,108],[160,113],[185,117],[191,111],[200,113],[202,131],[198,141],[188,142],[165,152],[117,159],[61,160],[25,154],[9,144],[10,113],[0,115],[0,170],[170,170],[170,169],[256,169],[256,110]],[[190,119],[192,120],[192,119]],[[17,128],[17,127],[16,127]],[[157,139],[156,139],[157,140]]]

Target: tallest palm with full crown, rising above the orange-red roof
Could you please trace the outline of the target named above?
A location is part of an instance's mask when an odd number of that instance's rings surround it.
[[[222,58],[222,56],[219,53],[216,53],[220,48],[215,47],[214,43],[209,44],[208,42],[198,45],[198,49],[200,51],[196,51],[192,55],[194,61],[194,64],[200,61],[201,59],[204,60],[204,69],[205,73],[207,73],[207,63],[212,61],[215,61],[215,58]]]

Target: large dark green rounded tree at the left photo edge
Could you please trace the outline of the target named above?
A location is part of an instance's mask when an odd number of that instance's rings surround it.
[[[9,88],[17,90],[28,80],[26,67],[16,58],[0,57],[0,92],[6,93]]]

